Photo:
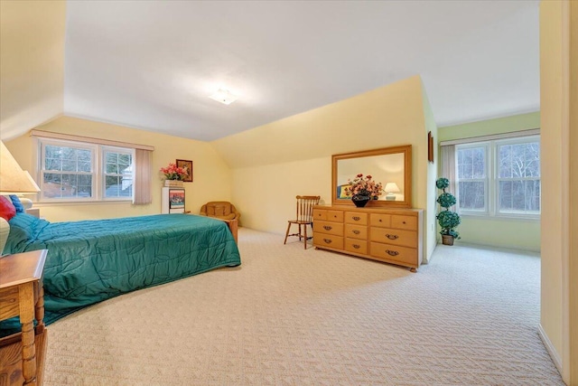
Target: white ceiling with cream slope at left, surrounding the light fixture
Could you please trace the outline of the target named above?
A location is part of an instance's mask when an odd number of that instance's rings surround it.
[[[415,74],[438,126],[539,108],[537,0],[72,1],[38,11],[59,31],[66,14],[65,35],[16,23],[25,17],[6,3],[17,2],[2,2],[3,137],[63,112],[214,140]],[[209,99],[219,87],[238,101]],[[62,98],[60,111],[39,108]]]

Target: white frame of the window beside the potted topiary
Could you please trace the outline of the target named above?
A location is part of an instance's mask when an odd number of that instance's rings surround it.
[[[527,178],[528,180],[538,180],[540,184],[540,211],[537,213],[523,213],[523,212],[502,212],[499,210],[499,181],[519,181],[519,178],[500,178],[499,177],[499,146],[507,146],[507,145],[517,145],[517,144],[524,144],[524,143],[531,143],[531,142],[538,142],[541,146],[541,137],[539,134],[529,135],[529,136],[519,136],[519,137],[506,137],[506,138],[497,138],[497,139],[490,139],[485,141],[478,141],[478,142],[468,142],[457,144],[455,146],[455,189],[456,189],[456,211],[459,212],[461,215],[466,217],[491,217],[491,218],[499,218],[504,220],[540,220],[540,216],[542,213],[542,173],[540,170],[539,177],[530,177]],[[458,151],[465,148],[472,148],[472,147],[480,147],[480,146],[488,146],[487,151],[487,159],[486,159],[486,179],[487,183],[487,191],[485,192],[486,195],[486,211],[472,211],[468,209],[463,209],[460,207],[460,178],[459,178],[459,166],[458,166]],[[467,181],[473,181],[471,179],[467,179]]]

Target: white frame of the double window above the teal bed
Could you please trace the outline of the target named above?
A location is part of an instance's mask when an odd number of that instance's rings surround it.
[[[130,196],[117,196],[117,197],[106,197],[106,174],[105,174],[105,152],[110,150],[117,150],[118,153],[130,154],[132,165],[133,165],[133,182],[135,179],[135,149],[130,147],[121,146],[109,146],[100,145],[94,143],[66,140],[66,139],[56,139],[56,138],[46,138],[39,137],[38,149],[36,152],[37,156],[37,167],[38,167],[38,182],[41,188],[41,192],[38,194],[38,202],[50,202],[50,203],[89,203],[89,202],[132,202],[135,196],[135,187],[133,185],[132,194]],[[46,155],[45,146],[61,146],[61,147],[74,147],[79,149],[89,149],[91,151],[91,172],[92,175],[92,192],[90,197],[80,198],[80,197],[66,197],[66,198],[50,198],[44,197],[42,190],[44,188],[44,174],[50,173],[45,169]],[[79,174],[79,172],[73,172],[68,174]],[[86,173],[83,173],[86,174]]]

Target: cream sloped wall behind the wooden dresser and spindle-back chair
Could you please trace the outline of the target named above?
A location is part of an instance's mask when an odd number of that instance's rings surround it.
[[[331,203],[331,155],[408,144],[413,206],[427,209],[423,93],[415,76],[213,141],[232,168],[233,202],[247,212],[243,226],[284,234],[296,195],[319,194]],[[430,113],[428,118],[433,122]],[[427,239],[424,233],[424,250],[431,253]]]

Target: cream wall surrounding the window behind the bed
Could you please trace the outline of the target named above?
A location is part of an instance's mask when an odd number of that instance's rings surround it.
[[[127,202],[36,203],[35,206],[40,208],[42,217],[48,221],[76,221],[160,213],[163,174],[159,172],[159,169],[168,165],[169,162],[174,162],[175,159],[193,161],[193,182],[184,184],[186,211],[199,213],[200,206],[205,202],[230,201],[231,199],[231,174],[228,165],[207,142],[69,117],[57,118],[36,128],[56,133],[154,146],[153,203],[150,205],[133,205]],[[31,171],[34,175],[36,146],[33,137],[25,134],[5,142],[5,145],[23,169]]]

